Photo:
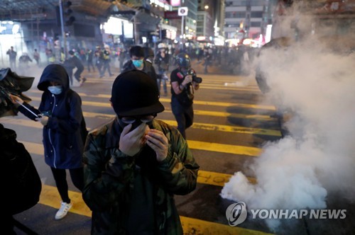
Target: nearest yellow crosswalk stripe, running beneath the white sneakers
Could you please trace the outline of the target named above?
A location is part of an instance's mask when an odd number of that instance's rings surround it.
[[[69,191],[69,197],[72,201],[72,208],[70,213],[80,214],[86,217],[92,217],[92,212],[82,200],[82,193],[75,191]],[[56,187],[50,185],[42,185],[42,191],[40,192],[40,201],[42,205],[60,208],[60,196]],[[190,217],[180,216],[182,222],[182,229],[184,234],[250,234],[250,235],[267,235],[263,231],[257,231],[252,229],[244,229],[241,227],[230,227],[224,224],[218,224],[214,222],[207,222],[202,219],[194,219]]]

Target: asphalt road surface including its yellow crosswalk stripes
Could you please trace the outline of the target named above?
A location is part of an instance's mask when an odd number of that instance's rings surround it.
[[[195,65],[197,72],[202,66]],[[281,138],[280,123],[275,118],[275,107],[266,103],[256,81],[251,76],[231,76],[210,69],[213,74],[198,74],[203,82],[195,93],[195,124],[187,130],[189,147],[200,164],[197,188],[190,195],[176,196],[175,203],[182,218],[185,234],[268,234],[262,219],[246,219],[237,227],[229,226],[226,208],[233,201],[220,196],[222,187],[237,171],[250,178],[253,173],[248,168],[253,159],[261,153],[266,142]],[[219,74],[217,74],[217,72]],[[118,69],[116,69],[116,75]],[[34,87],[26,92],[33,98],[32,105],[38,107],[40,92]],[[97,73],[86,73],[87,81],[83,86],[73,87],[82,97],[82,109],[87,127],[99,127],[114,117],[109,106],[111,85],[115,76],[99,79]],[[170,86],[169,86],[170,89]],[[165,111],[158,119],[176,125],[170,108],[170,97],[162,97]],[[71,197],[74,202],[67,217],[55,221],[54,215],[60,206],[50,168],[43,161],[41,126],[26,119],[23,115],[1,118],[1,123],[18,134],[33,156],[33,161],[43,181],[40,202],[31,209],[16,214],[15,218],[37,234],[89,234],[90,212],[82,202],[80,193],[70,183]],[[70,182],[70,180],[69,180]],[[282,190],[280,188],[280,190]],[[329,207],[335,207],[335,203]],[[277,234],[355,234],[354,205],[349,208],[344,220],[288,219],[282,222]],[[339,207],[338,207],[339,208]],[[351,209],[352,208],[352,209]],[[16,229],[18,234],[25,234]]]

